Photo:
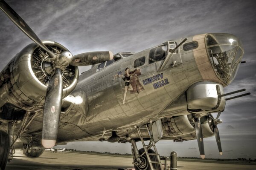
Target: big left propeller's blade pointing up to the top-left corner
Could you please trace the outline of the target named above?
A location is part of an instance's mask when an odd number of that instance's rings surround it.
[[[38,44],[44,51],[46,51],[51,58],[55,56],[55,54],[50,51],[44,43],[38,38],[38,36],[33,32],[33,30],[28,26],[28,24],[3,0],[0,0],[0,9],[12,20],[13,23],[21,31],[23,31],[31,40]]]

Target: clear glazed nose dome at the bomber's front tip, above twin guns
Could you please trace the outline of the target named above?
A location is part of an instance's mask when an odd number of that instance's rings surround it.
[[[212,33],[206,35],[205,42],[215,74],[222,82],[230,84],[244,54],[241,41],[231,34]]]

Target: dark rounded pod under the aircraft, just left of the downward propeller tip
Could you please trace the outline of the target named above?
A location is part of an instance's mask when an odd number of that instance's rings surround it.
[[[23,154],[28,158],[38,158],[44,152],[44,147],[32,146],[30,144],[24,144]]]

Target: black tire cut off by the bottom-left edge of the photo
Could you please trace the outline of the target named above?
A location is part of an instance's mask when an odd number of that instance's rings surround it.
[[[10,142],[9,135],[0,130],[0,168],[4,170],[9,157]]]

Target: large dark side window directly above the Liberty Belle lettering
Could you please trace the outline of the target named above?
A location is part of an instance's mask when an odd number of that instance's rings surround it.
[[[154,49],[151,49],[148,57],[148,64],[165,59],[166,54],[167,54],[166,45],[158,46],[158,47],[155,47]]]

